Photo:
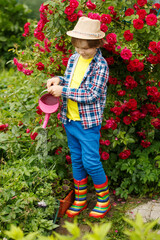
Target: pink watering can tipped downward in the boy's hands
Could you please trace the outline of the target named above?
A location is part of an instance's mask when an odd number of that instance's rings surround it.
[[[44,91],[47,91],[47,90],[44,90]],[[51,113],[54,113],[58,110],[59,98],[54,97],[50,93],[46,93],[39,99],[38,102],[39,102],[40,109],[42,110],[42,112],[45,113],[45,119],[44,119],[42,128],[46,128]]]

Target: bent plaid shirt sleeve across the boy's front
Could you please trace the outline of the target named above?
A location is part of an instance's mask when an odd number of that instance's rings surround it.
[[[62,96],[79,103],[94,103],[100,98],[101,93],[107,90],[108,76],[108,65],[100,64],[96,74],[90,76],[93,79],[88,86],[83,85],[82,88],[78,89],[63,87]]]

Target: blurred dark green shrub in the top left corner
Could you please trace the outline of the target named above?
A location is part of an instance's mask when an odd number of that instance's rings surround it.
[[[0,68],[13,58],[10,49],[15,44],[24,46],[22,33],[29,11],[26,5],[18,4],[16,0],[0,0]]]

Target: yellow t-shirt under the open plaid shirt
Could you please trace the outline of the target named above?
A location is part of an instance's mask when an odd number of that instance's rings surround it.
[[[85,59],[82,56],[79,57],[78,63],[75,67],[73,78],[71,80],[70,88],[78,89],[84,74],[93,58]],[[67,102],[67,118],[71,120],[81,120],[79,116],[78,103],[68,99]]]

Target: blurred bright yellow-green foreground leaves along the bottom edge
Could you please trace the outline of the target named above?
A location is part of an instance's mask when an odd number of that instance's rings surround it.
[[[132,226],[131,229],[125,230],[125,234],[129,236],[130,240],[158,240],[160,239],[157,231],[153,230],[153,227],[157,224],[157,220],[151,223],[144,223],[140,215],[136,216],[134,221],[125,218],[125,221]],[[68,230],[70,235],[61,235],[53,232],[53,235],[44,237],[39,235],[37,232],[30,233],[24,237],[23,231],[19,227],[11,226],[10,231],[5,231],[5,234],[14,240],[107,240],[108,233],[111,230],[111,223],[103,224],[89,224],[91,232],[81,235],[80,228],[77,225],[77,221],[73,223],[65,222],[65,228]],[[126,239],[126,238],[125,238]]]

